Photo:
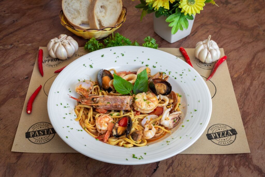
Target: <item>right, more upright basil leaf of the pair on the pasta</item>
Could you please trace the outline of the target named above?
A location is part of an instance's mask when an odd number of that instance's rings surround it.
[[[147,92],[147,90],[148,90],[148,77],[145,69],[137,75],[137,79],[135,80],[133,87],[133,93],[136,95],[138,93]]]

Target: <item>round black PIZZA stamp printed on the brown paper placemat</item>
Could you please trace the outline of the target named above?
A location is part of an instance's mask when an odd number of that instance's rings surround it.
[[[225,124],[211,126],[206,134],[208,140],[221,146],[232,144],[236,140],[236,135],[236,129]]]

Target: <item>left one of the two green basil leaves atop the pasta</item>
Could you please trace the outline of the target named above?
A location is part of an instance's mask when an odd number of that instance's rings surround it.
[[[124,94],[124,95],[127,95],[127,94],[132,95],[131,91],[133,90],[133,84],[128,82],[125,79],[122,79],[122,77],[118,76],[115,73],[113,76],[114,76],[113,85],[114,85],[114,88],[117,90],[117,92]]]

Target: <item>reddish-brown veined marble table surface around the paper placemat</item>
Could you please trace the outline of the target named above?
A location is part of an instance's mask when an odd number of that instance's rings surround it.
[[[0,1],[0,174],[2,176],[265,176],[265,2],[217,0],[196,15],[191,34],[173,44],[153,31],[153,17],[140,22],[138,1],[123,0],[127,19],[117,32],[160,47],[194,48],[212,35],[227,64],[251,153],[179,154],[146,165],[113,165],[80,153],[11,152],[39,46],[67,34],[60,24],[61,1]],[[87,40],[74,36],[80,46]]]

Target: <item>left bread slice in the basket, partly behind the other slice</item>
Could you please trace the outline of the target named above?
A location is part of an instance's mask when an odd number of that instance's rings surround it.
[[[62,0],[65,17],[76,28],[89,29],[89,7],[92,0]]]

